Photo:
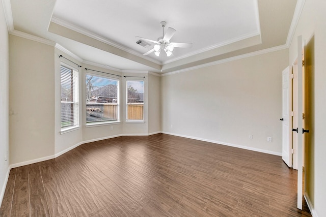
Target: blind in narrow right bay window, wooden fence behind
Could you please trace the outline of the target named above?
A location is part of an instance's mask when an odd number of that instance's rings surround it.
[[[127,80],[127,121],[144,120],[144,81]]]

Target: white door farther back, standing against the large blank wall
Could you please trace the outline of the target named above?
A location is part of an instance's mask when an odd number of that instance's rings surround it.
[[[292,144],[290,145],[290,67],[282,72],[282,159],[292,167]]]

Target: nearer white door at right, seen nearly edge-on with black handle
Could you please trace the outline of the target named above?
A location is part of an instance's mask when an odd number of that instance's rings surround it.
[[[297,208],[302,209],[303,178],[303,46],[302,36],[297,37]]]

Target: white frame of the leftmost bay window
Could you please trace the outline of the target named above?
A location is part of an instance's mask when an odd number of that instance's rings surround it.
[[[65,67],[69,70],[72,70],[72,79],[73,79],[73,101],[62,101],[62,90],[60,90],[60,126],[61,126],[61,133],[66,133],[78,129],[79,126],[79,72],[74,67],[71,67],[63,62],[60,63],[60,89],[62,86],[62,77],[61,77],[61,67]],[[72,104],[73,105],[73,125],[62,127],[62,104]]]

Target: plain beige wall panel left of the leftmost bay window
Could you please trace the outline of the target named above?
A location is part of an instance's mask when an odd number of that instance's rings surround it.
[[[10,163],[55,153],[54,47],[9,37]]]

